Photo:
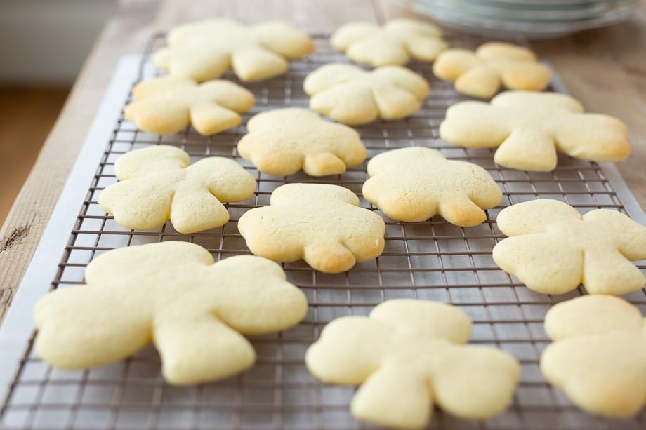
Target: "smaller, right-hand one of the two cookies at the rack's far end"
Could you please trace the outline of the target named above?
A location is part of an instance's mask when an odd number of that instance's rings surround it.
[[[330,43],[350,60],[372,67],[405,65],[411,58],[433,61],[447,48],[439,28],[407,18],[388,20],[383,27],[348,22],[332,34]]]

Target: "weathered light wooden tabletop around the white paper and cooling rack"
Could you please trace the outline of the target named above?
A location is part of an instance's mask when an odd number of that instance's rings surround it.
[[[58,122],[0,230],[0,321],[37,248],[67,175],[121,55],[140,53],[154,31],[228,16],[282,19],[306,32],[332,32],[352,20],[411,15],[390,0],[122,0],[88,56]],[[451,33],[450,30],[447,30]],[[473,43],[481,40],[473,38]],[[630,130],[633,154],[617,166],[646,208],[646,4],[621,25],[531,43],[550,60],[588,112],[612,114]]]

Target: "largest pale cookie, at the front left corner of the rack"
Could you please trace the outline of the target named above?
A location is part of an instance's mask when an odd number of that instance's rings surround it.
[[[187,242],[111,250],[88,264],[85,279],[37,304],[39,356],[58,368],[81,369],[154,342],[171,384],[242,372],[256,361],[242,335],[289,328],[308,307],[274,262],[239,255],[213,264],[211,253]]]

